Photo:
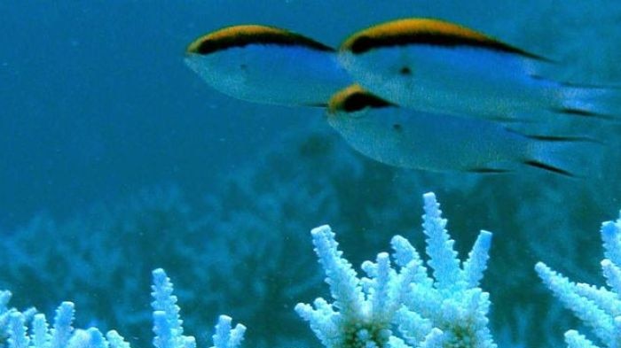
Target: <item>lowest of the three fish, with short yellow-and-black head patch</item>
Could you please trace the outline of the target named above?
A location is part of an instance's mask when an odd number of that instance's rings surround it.
[[[603,146],[587,137],[524,135],[498,121],[403,108],[358,84],[334,94],[326,114],[328,124],[366,157],[431,172],[501,174],[534,167],[587,177]]]

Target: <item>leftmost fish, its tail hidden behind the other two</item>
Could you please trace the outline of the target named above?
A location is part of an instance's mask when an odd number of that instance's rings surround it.
[[[261,104],[325,107],[351,83],[334,48],[255,24],[200,36],[187,47],[185,64],[225,95]]]

